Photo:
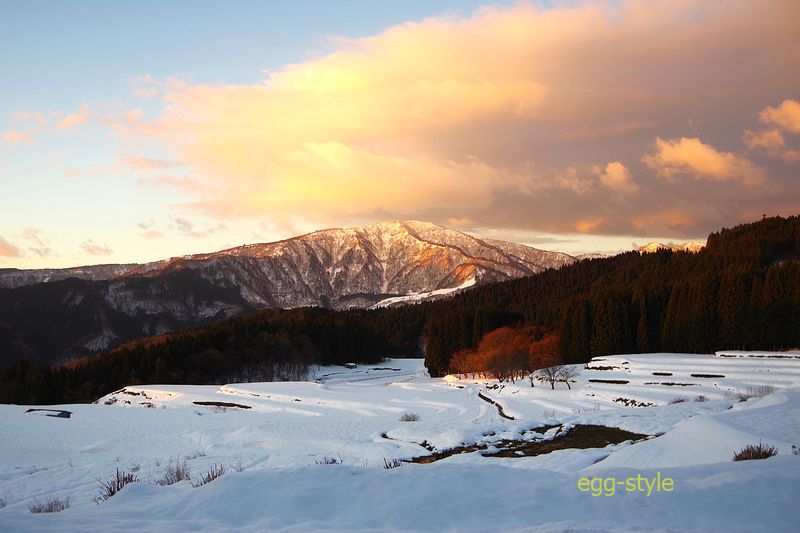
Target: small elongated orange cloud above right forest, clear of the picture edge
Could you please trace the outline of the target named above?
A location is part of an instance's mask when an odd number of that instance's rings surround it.
[[[717,182],[738,181],[746,186],[760,185],[766,180],[764,171],[748,159],[730,152],[719,152],[697,137],[656,139],[656,152],[642,161],[659,176],[676,181],[679,176]]]

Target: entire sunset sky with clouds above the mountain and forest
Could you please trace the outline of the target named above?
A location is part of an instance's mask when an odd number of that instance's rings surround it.
[[[0,1],[0,268],[800,213],[800,3]]]

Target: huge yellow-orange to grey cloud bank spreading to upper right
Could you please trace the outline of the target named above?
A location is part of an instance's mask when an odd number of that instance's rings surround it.
[[[135,88],[140,96],[157,89],[161,113],[109,124],[171,150],[191,176],[154,178],[157,169],[131,165],[147,173],[143,183],[174,186],[183,207],[223,218],[339,224],[467,214],[475,225],[621,233],[634,222],[611,212],[609,200],[645,191],[637,201],[647,214],[700,190],[705,197],[697,193],[682,212],[704,224],[695,215],[716,201],[709,182],[778,179],[767,165],[713,146],[731,123],[752,128],[753,111],[796,87],[789,73],[799,17],[800,4],[789,0],[483,8],[339,39],[260,83],[143,76]],[[760,82],[739,89],[732,73]],[[784,104],[764,120],[790,114]],[[703,125],[705,143],[689,123]],[[664,140],[642,159],[641,146],[658,133]],[[608,154],[614,161],[594,169]],[[680,190],[664,182],[683,175],[695,179]],[[739,194],[719,210],[756,191]],[[686,226],[667,217],[659,224]]]

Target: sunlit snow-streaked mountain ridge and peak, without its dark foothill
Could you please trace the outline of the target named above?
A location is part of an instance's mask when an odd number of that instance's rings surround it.
[[[218,287],[238,288],[254,307],[348,308],[516,278],[573,261],[562,253],[406,221],[322,230],[143,265],[6,270],[0,271],[0,287],[68,277],[112,280],[115,286],[132,276],[190,270]]]

